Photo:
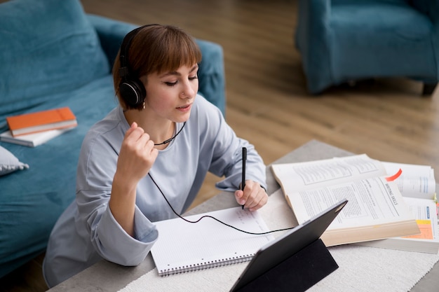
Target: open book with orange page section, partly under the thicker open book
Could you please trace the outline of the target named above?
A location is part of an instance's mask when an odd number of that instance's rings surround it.
[[[383,162],[388,173],[397,169],[403,172],[396,183],[410,211],[416,219],[421,234],[407,237],[391,237],[389,239],[361,242],[361,245],[438,253],[439,227],[436,209],[434,171],[428,165],[407,165]]]

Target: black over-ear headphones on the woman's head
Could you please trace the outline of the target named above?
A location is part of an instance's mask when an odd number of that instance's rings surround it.
[[[128,50],[130,48],[131,41],[133,41],[135,35],[140,31],[140,29],[152,25],[144,25],[142,27],[137,27],[137,29],[133,29],[125,36],[125,38],[123,38],[122,41],[121,53],[119,54],[119,60],[121,62],[119,75],[121,76],[122,81],[119,83],[119,92],[126,104],[131,108],[138,108],[140,104],[143,104],[144,98],[147,96],[147,90],[145,90],[142,81],[140,81],[138,77],[131,76],[130,74]]]

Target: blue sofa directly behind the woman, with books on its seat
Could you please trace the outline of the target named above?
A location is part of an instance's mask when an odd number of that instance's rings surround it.
[[[35,148],[0,143],[0,277],[45,250],[55,221],[74,200],[83,137],[117,105],[112,62],[135,27],[88,15],[79,0],[0,4],[1,132],[6,116],[60,106],[69,106],[79,123]],[[197,42],[199,91],[224,113],[222,47]]]

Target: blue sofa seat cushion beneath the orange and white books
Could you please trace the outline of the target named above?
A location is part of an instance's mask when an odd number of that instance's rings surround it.
[[[29,165],[0,176],[0,277],[46,249],[50,230],[75,197],[83,137],[118,104],[110,74],[50,97],[34,110],[69,106],[77,127],[35,148],[0,141],[0,146]]]

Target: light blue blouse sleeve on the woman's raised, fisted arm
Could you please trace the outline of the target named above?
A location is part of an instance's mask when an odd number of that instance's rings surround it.
[[[88,134],[84,139],[76,177],[76,224],[84,240],[106,260],[120,265],[138,265],[158,237],[155,225],[135,207],[135,237],[121,228],[109,209],[112,179],[123,135],[107,131],[105,137]]]

